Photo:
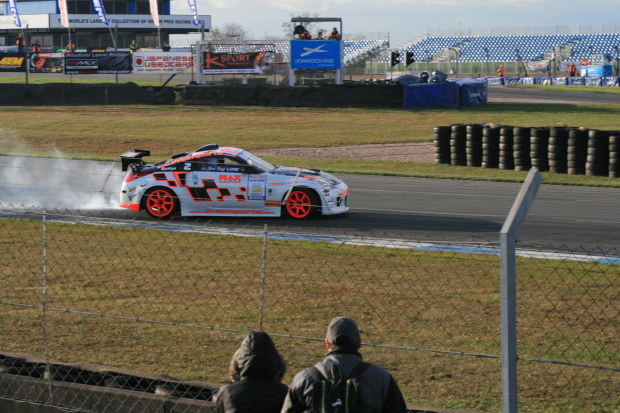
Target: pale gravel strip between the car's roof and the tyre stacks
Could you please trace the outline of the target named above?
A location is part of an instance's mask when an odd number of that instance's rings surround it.
[[[432,142],[386,143],[378,145],[337,146],[330,148],[282,148],[255,151],[258,156],[322,159],[384,159],[433,163],[435,147]]]

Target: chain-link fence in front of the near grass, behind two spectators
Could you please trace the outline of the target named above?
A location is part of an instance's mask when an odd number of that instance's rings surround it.
[[[347,315],[411,409],[502,409],[498,240],[0,211],[0,407],[209,412],[248,331],[288,383]],[[618,411],[619,251],[516,253],[519,409]]]

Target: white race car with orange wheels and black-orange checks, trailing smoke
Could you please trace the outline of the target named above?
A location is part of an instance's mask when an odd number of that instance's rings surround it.
[[[209,144],[147,164],[146,150],[121,155],[120,206],[153,218],[250,216],[306,219],[349,210],[348,186],[316,169],[272,165],[243,149]]]

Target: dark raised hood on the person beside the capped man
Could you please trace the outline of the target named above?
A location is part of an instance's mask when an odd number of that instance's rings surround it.
[[[284,360],[275,344],[264,332],[251,332],[241,343],[237,354],[241,378],[281,379],[286,370]]]

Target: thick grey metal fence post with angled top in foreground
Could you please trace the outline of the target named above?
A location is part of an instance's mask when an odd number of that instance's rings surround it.
[[[542,183],[536,168],[530,172],[500,231],[500,289],[502,311],[502,407],[504,413],[517,412],[517,282],[515,240],[527,211]]]

